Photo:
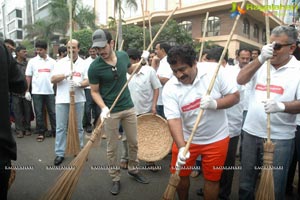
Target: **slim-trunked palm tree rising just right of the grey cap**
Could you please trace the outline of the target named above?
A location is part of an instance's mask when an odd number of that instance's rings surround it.
[[[121,43],[123,40],[123,31],[122,31],[122,13],[124,10],[122,9],[123,0],[115,0],[114,9],[115,14],[118,14],[118,47],[121,47]],[[134,8],[137,10],[137,3],[136,0],[126,0],[126,6],[129,8]],[[115,17],[114,17],[115,18]]]

